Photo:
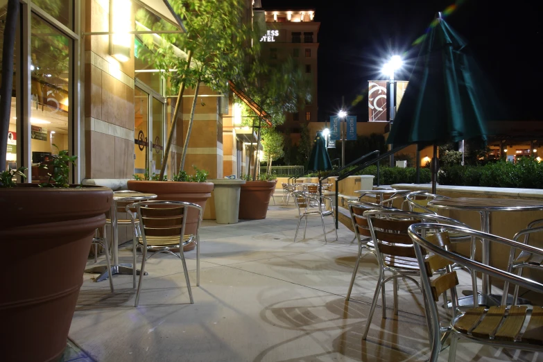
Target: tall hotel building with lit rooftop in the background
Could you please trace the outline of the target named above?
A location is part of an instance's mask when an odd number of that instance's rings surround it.
[[[284,126],[299,132],[305,122],[317,121],[318,111],[318,29],[313,21],[315,10],[300,8],[266,8],[255,1],[255,26],[261,29],[261,55],[270,64],[280,64],[292,57],[300,65],[312,85],[311,101],[300,104],[298,112],[286,114]]]

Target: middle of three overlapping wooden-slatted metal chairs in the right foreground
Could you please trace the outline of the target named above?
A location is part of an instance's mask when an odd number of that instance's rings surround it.
[[[420,214],[417,212],[406,212],[402,210],[370,210],[363,213],[368,220],[370,234],[375,245],[377,261],[379,262],[379,277],[377,287],[373,296],[372,306],[366,322],[365,331],[362,339],[368,336],[379,291],[381,291],[383,318],[386,318],[386,296],[385,284],[393,280],[394,313],[398,313],[398,278],[409,279],[414,282],[418,288],[421,288],[415,277],[420,276],[420,268],[415,258],[413,241],[407,234],[408,227],[413,223],[419,223],[421,220],[435,221],[443,225],[467,225],[460,223],[452,218],[434,214]],[[439,225],[439,224],[438,224]],[[386,273],[391,273],[386,277]],[[422,288],[421,288],[422,289]],[[428,321],[429,323],[429,321]]]

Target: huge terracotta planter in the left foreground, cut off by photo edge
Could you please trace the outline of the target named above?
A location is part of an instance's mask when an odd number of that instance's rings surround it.
[[[64,352],[89,248],[105,224],[107,187],[0,189],[2,361],[56,361]]]

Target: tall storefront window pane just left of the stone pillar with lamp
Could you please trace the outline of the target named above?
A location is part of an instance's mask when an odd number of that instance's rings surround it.
[[[71,40],[45,21],[31,17],[32,182],[47,180],[51,155],[68,147],[69,53]],[[56,147],[55,147],[56,146]],[[57,149],[58,147],[58,149]]]

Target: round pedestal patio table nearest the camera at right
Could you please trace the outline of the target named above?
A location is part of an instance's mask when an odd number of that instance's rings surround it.
[[[481,214],[481,231],[490,234],[490,213],[508,211],[537,211],[543,210],[543,200],[527,200],[513,198],[449,198],[446,200],[431,200],[428,207],[438,209],[475,211]],[[490,265],[490,243],[483,240],[481,262]],[[490,283],[488,275],[482,275],[482,291],[480,304],[499,305],[501,295],[490,294]],[[490,300],[489,300],[490,297]],[[468,300],[471,298],[468,298]],[[472,302],[470,302],[471,304]],[[460,304],[461,305],[461,304]]]

